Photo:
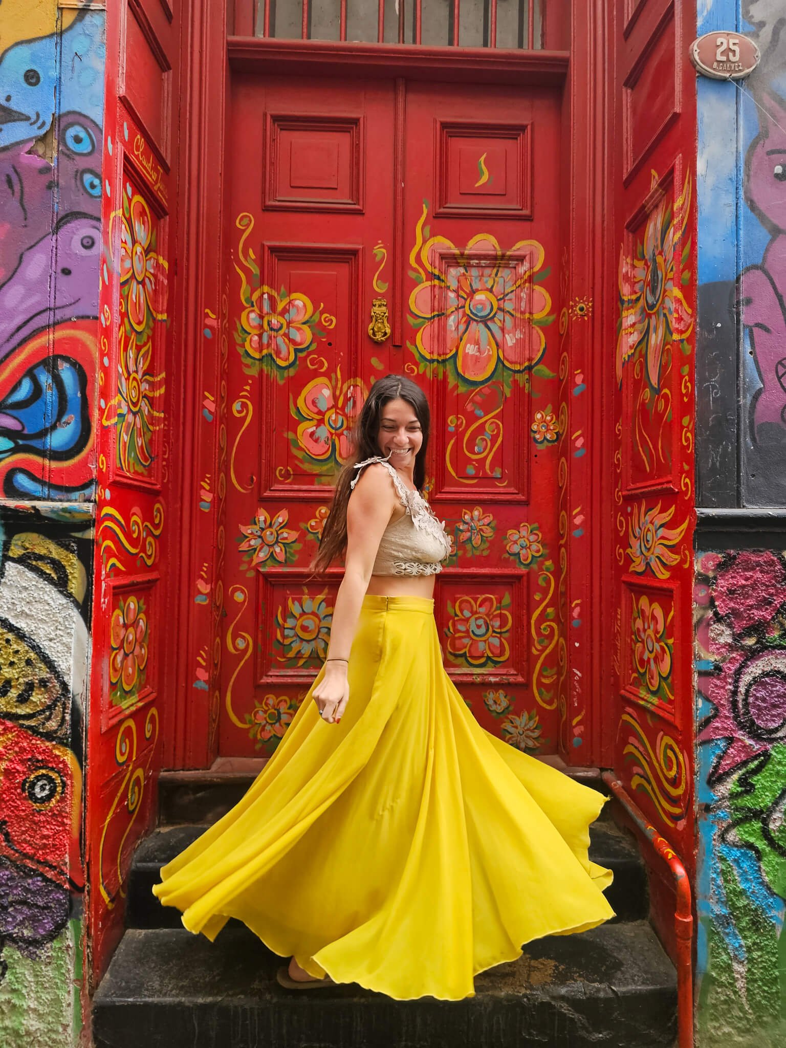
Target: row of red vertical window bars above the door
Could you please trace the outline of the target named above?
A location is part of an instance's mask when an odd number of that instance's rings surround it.
[[[385,2],[386,0],[378,0],[377,7],[377,43],[379,44],[385,43]],[[435,0],[425,0],[427,4],[433,2]],[[534,22],[537,2],[538,0],[519,0],[519,31],[516,41],[519,49],[526,48],[531,51],[536,48]],[[489,48],[498,46],[498,3],[499,0],[483,0],[484,46]],[[542,0],[542,4],[545,6],[545,0]],[[276,0],[258,0],[258,6],[262,8],[262,18],[259,20],[261,21],[262,37],[275,37]],[[412,14],[410,22],[412,27],[412,42],[415,45],[419,45],[422,43],[423,0],[409,0],[409,6]],[[399,44],[403,44],[407,41],[408,0],[398,0],[397,7],[397,40]],[[303,40],[310,40],[311,0],[301,0],[301,38]],[[342,42],[347,40],[347,0],[339,0],[339,40]],[[449,47],[459,47],[461,45],[461,0],[451,0],[447,41],[445,43]]]

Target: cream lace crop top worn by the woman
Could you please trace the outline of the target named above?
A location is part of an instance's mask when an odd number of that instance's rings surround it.
[[[451,540],[429,503],[419,492],[411,492],[387,459],[377,455],[357,462],[355,470],[363,470],[371,462],[380,462],[393,480],[405,515],[389,524],[383,532],[372,568],[375,575],[434,575],[442,570],[441,561],[451,552]],[[352,480],[354,488],[361,474]]]

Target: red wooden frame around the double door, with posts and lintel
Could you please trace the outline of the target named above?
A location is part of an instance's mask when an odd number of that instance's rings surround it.
[[[225,100],[235,71],[264,69],[290,75],[329,74],[408,80],[465,81],[517,85],[563,85],[560,263],[560,439],[559,551],[556,558],[559,647],[559,750],[567,764],[611,764],[615,707],[610,632],[595,607],[610,606],[611,549],[604,544],[611,521],[613,470],[608,414],[613,389],[593,361],[616,329],[616,266],[613,245],[596,231],[608,222],[613,129],[607,127],[607,81],[612,53],[611,8],[615,0],[593,4],[555,0],[547,42],[562,45],[570,28],[571,50],[497,51],[411,45],[333,44],[279,41],[242,35],[253,31],[250,0],[230,0],[223,26],[215,3],[194,5],[192,40],[201,48],[183,56],[187,78],[183,121],[179,236],[178,310],[181,345],[193,347],[183,370],[180,505],[182,532],[177,606],[184,642],[176,653],[174,694],[167,704],[161,766],[209,768],[217,756],[218,674],[224,608],[221,571],[225,544],[225,492],[228,353],[224,250],[230,216],[225,206]],[[591,7],[588,10],[586,8]],[[210,9],[209,9],[210,8]],[[223,31],[219,31],[223,29]],[[558,35],[559,34],[559,35]],[[549,37],[550,35],[550,37]],[[610,61],[610,60],[609,60]],[[220,149],[217,149],[220,144]],[[216,156],[220,160],[216,162]],[[219,250],[216,234],[221,231]],[[602,293],[593,296],[593,289]],[[613,344],[613,343],[612,343]],[[604,354],[608,355],[608,354]],[[610,357],[609,357],[610,359]],[[613,368],[609,368],[611,375]],[[577,376],[582,376],[578,381]],[[578,392],[578,387],[584,389]],[[205,423],[205,418],[209,418]],[[575,455],[576,434],[584,452]],[[606,464],[605,464],[606,463]],[[204,482],[203,478],[209,478]],[[201,486],[200,486],[201,485]],[[208,507],[205,508],[205,502]],[[582,527],[582,519],[592,527]],[[206,558],[206,559],[205,559]],[[581,609],[585,609],[581,614]],[[570,636],[568,637],[568,632]],[[607,708],[604,708],[604,707]],[[578,741],[580,745],[576,745]]]

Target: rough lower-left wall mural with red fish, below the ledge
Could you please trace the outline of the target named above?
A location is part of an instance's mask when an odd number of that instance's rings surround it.
[[[0,1039],[42,1043],[80,1013],[92,523],[63,507],[0,526]]]

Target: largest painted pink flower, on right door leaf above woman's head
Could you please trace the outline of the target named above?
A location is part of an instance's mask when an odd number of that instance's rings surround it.
[[[421,371],[445,366],[462,389],[502,378],[509,391],[514,375],[539,367],[543,328],[553,320],[551,297],[539,283],[547,276],[540,272],[543,247],[520,240],[503,252],[495,237],[480,233],[461,252],[444,237],[429,239],[427,214],[423,204],[410,255],[417,282],[410,296],[417,336],[410,348]]]

